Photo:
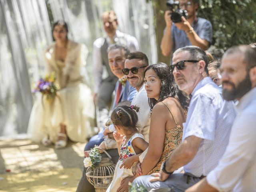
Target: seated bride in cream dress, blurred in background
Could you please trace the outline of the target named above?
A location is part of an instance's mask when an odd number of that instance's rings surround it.
[[[85,142],[92,134],[94,105],[80,74],[86,64],[86,46],[68,39],[68,26],[63,21],[54,23],[52,34],[55,42],[45,52],[46,68],[48,73],[55,73],[60,90],[52,100],[39,96],[32,108],[28,132],[34,141],[63,148],[67,138]]]

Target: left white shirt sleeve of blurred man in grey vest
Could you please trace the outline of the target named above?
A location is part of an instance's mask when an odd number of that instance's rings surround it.
[[[93,62],[93,72],[94,72],[94,92],[97,93],[102,82],[102,56],[100,52],[101,48],[100,39],[97,39],[93,43],[93,52],[92,52],[92,62]]]

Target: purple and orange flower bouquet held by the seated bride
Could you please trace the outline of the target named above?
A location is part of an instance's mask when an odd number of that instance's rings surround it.
[[[33,93],[41,92],[43,95],[46,95],[47,99],[54,98],[56,92],[60,89],[60,86],[55,83],[56,77],[55,73],[52,72],[45,76],[45,78],[40,78],[36,83],[36,88]]]

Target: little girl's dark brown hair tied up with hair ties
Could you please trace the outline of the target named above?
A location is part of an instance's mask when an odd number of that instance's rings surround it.
[[[114,126],[120,126],[124,131],[138,132],[138,116],[139,107],[122,105],[116,107],[112,112],[110,119]]]

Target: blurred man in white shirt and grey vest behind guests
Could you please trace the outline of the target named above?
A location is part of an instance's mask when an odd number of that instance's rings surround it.
[[[92,54],[95,83],[94,102],[96,102],[97,119],[100,116],[108,115],[112,92],[118,80],[108,65],[108,47],[112,44],[120,44],[126,46],[130,52],[139,50],[138,41],[134,36],[117,30],[118,20],[113,10],[103,12],[102,21],[106,35],[94,41]],[[105,69],[106,71],[104,71]],[[97,120],[98,126],[103,126],[104,123]]]

